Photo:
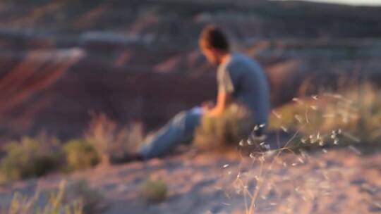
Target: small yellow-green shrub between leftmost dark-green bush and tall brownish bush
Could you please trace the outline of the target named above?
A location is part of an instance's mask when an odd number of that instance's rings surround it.
[[[73,139],[63,146],[67,170],[83,170],[99,163],[94,146],[83,139]]]

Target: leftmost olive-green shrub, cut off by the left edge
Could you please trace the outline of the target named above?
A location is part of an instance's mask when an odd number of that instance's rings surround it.
[[[0,162],[3,180],[18,180],[38,177],[55,170],[59,165],[61,153],[57,141],[44,141],[23,137],[20,142],[13,141],[4,146],[6,155]]]

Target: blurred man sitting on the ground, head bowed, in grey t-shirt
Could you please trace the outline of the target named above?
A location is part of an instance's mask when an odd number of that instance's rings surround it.
[[[255,136],[264,134],[270,100],[267,78],[260,65],[241,53],[232,53],[225,34],[214,25],[202,30],[199,44],[207,61],[218,66],[216,105],[203,104],[179,113],[141,146],[136,158],[163,156],[174,146],[191,141],[202,115],[219,117],[232,102],[251,111],[258,127]]]

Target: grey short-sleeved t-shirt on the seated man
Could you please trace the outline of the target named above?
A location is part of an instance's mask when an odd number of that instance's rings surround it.
[[[265,72],[253,59],[241,53],[231,54],[217,70],[218,90],[231,93],[233,99],[247,106],[255,124],[267,124],[270,94]]]

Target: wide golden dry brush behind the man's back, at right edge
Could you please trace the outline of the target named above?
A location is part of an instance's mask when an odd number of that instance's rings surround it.
[[[361,84],[338,93],[322,93],[274,109],[270,128],[284,132],[298,131],[289,146],[325,146],[375,142],[381,137],[381,103],[375,89]],[[342,142],[344,143],[344,142]]]

